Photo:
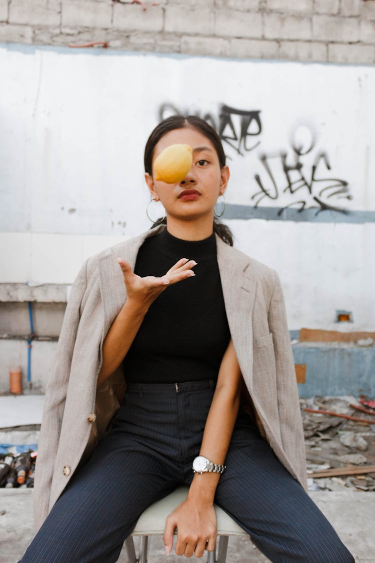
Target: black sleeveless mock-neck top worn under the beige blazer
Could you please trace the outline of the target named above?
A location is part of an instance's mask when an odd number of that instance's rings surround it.
[[[180,258],[195,260],[195,276],[168,285],[152,303],[126,354],[127,382],[178,383],[214,379],[231,333],[225,313],[213,233],[182,240],[166,229],[139,248],[134,272],[162,276]]]

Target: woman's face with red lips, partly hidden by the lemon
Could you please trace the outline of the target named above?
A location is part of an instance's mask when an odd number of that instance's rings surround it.
[[[153,163],[157,155],[169,145],[187,144],[193,149],[191,171],[177,184],[155,180]],[[229,169],[220,168],[214,145],[196,129],[186,127],[165,133],[156,144],[152,156],[152,176],[145,175],[152,198],[160,200],[168,216],[176,219],[195,219],[202,216],[213,219],[214,205],[227,188]],[[193,193],[186,194],[186,191]]]

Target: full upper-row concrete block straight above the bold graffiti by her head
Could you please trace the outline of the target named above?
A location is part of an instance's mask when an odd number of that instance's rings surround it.
[[[215,35],[224,37],[261,37],[262,16],[256,12],[218,10],[215,14]]]

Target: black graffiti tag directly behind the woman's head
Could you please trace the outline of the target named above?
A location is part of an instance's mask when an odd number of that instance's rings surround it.
[[[245,155],[244,151],[248,153],[260,143],[257,141],[252,146],[247,145],[249,137],[255,137],[261,133],[260,110],[241,110],[222,104],[218,117],[215,117],[212,113],[202,113],[199,110],[180,111],[174,104],[162,104],[159,108],[159,119],[165,119],[170,115],[201,117],[219,133],[219,137],[224,143],[231,146],[242,157]]]

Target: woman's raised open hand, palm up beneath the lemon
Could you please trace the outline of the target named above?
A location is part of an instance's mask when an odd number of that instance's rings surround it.
[[[140,309],[145,307],[146,310],[165,291],[168,285],[195,276],[192,268],[197,265],[195,260],[180,258],[161,278],[156,278],[155,276],[141,278],[141,276],[134,274],[128,261],[123,258],[118,258],[117,261],[124,276],[126,301],[133,303],[135,307]]]

